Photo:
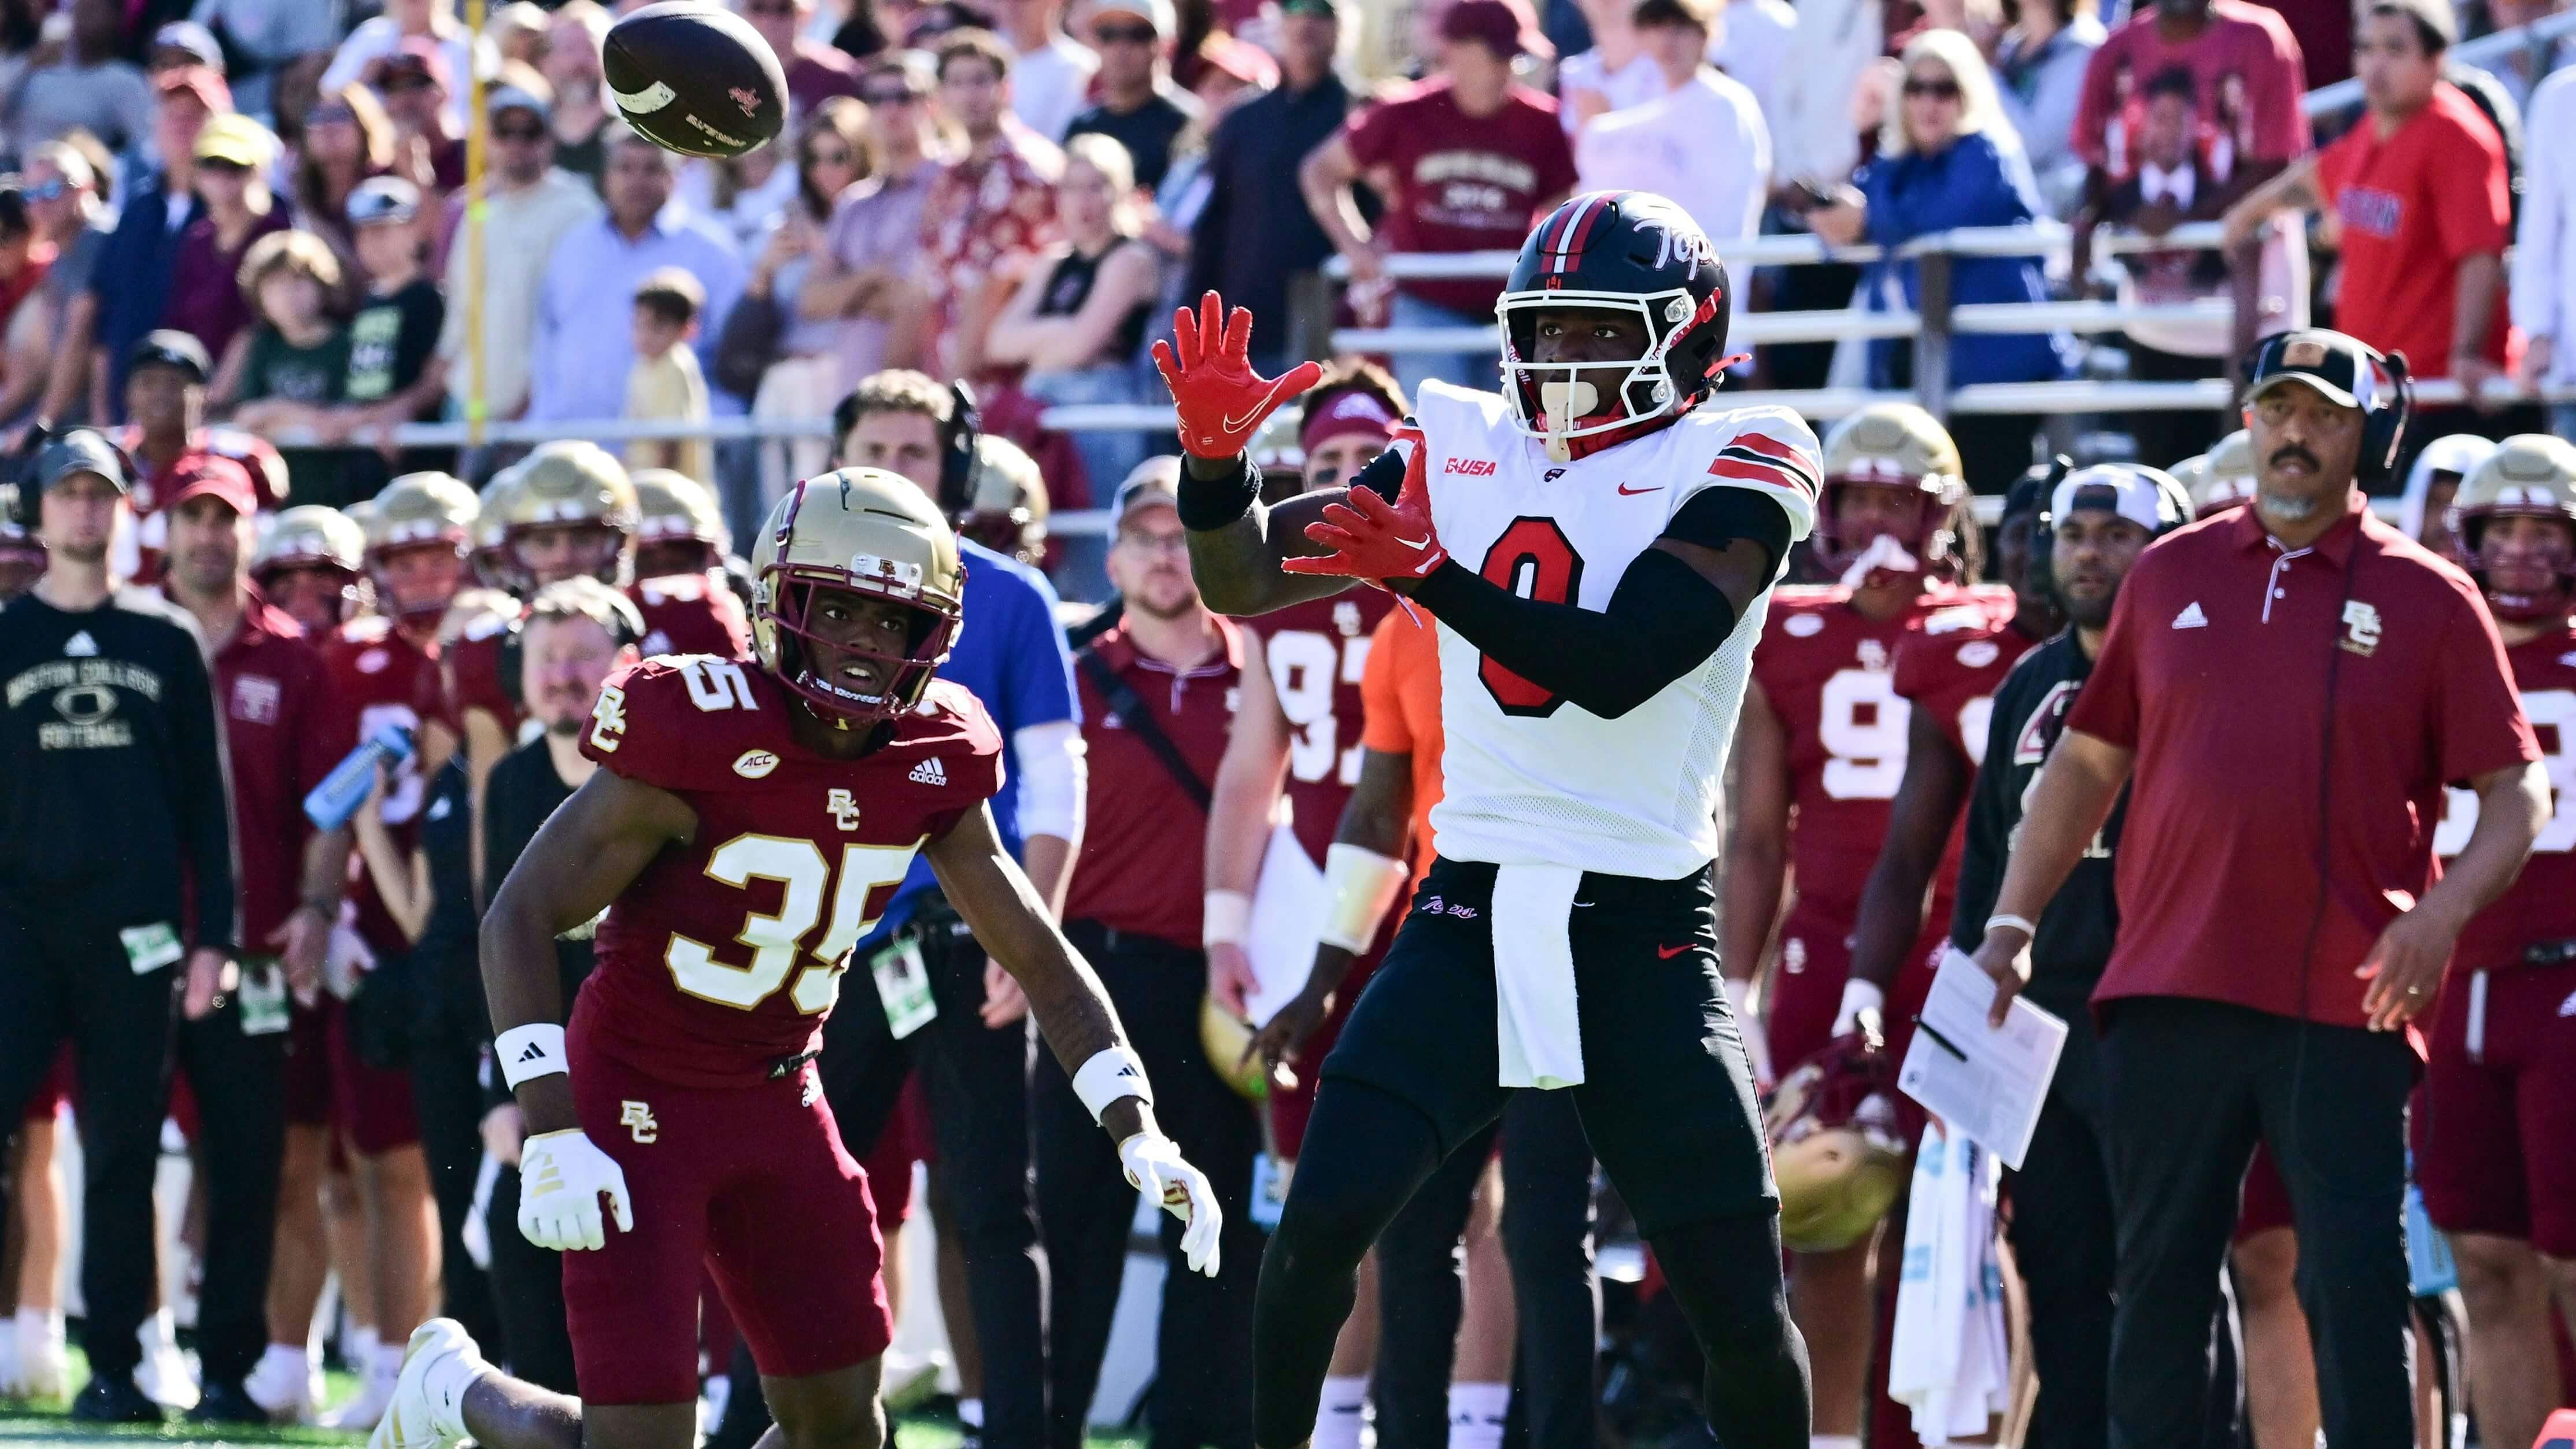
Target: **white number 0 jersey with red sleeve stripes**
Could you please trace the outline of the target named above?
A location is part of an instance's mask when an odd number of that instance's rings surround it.
[[[1700,489],[1775,499],[1790,540],[1816,522],[1824,461],[1783,407],[1716,407],[1553,463],[1499,394],[1422,383],[1412,468],[1432,528],[1461,566],[1522,595],[1607,610],[1628,561]],[[1770,589],[1705,664],[1607,721],[1492,661],[1440,625],[1445,793],[1432,806],[1440,854],[1494,865],[1571,865],[1677,880],[1718,854],[1718,780],[1752,677]]]

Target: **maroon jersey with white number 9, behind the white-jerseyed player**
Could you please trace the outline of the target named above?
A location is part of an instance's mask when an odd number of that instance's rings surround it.
[[[1855,610],[1839,584],[1772,592],[1754,682],[1788,736],[1788,849],[1801,909],[1837,921],[1860,911],[1906,772],[1911,705],[1896,692],[1896,646],[1984,592],[1935,587],[1878,620]]]

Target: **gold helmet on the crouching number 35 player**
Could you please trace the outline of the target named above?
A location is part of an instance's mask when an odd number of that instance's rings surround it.
[[[814,595],[840,589],[920,613],[904,654],[817,638]],[[848,728],[894,718],[922,700],[948,661],[966,602],[958,540],[920,486],[884,468],[840,468],[796,484],[752,546],[752,654],[814,713]],[[817,677],[811,649],[873,661],[878,692]]]

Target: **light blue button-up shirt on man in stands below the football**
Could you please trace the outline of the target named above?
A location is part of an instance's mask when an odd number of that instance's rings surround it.
[[[706,288],[698,363],[714,373],[716,335],[742,296],[734,239],[685,206],[665,206],[631,242],[600,214],[564,232],[546,257],[546,278],[536,288],[528,422],[587,422],[626,412],[626,373],[636,360],[636,286],[657,268],[680,268]]]

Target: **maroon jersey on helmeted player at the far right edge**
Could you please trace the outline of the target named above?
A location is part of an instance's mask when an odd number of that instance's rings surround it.
[[[2576,628],[2558,628],[2504,651],[2522,692],[2522,713],[2540,736],[2540,762],[2550,772],[2550,818],[2532,842],[2522,875],[2478,911],[2452,947],[2455,970],[2522,965],[2522,947],[2576,942]],[[2478,826],[2478,795],[2450,790],[2439,854],[2460,854]]]

